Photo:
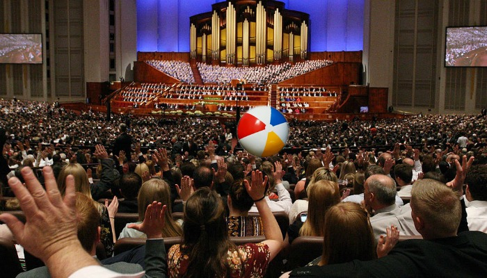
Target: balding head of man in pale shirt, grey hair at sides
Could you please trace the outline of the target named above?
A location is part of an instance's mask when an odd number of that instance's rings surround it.
[[[374,209],[392,206],[396,201],[396,183],[385,174],[373,174],[365,181],[364,187],[367,192],[364,193],[365,203],[369,202]]]

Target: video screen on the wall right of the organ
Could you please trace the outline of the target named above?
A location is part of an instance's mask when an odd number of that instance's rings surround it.
[[[445,67],[487,67],[487,26],[447,27]]]

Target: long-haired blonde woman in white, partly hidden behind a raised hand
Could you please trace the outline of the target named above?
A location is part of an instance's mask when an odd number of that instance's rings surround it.
[[[170,202],[170,188],[166,181],[163,179],[153,178],[142,184],[141,189],[138,191],[138,222],[135,224],[141,224],[145,218],[145,210],[149,204],[156,201],[163,205],[166,205],[167,209],[164,215],[164,224],[162,230],[162,236],[181,236],[182,229],[177,222],[173,220],[171,215],[171,202]],[[120,232],[118,238],[145,238],[145,234],[136,229],[130,229],[127,224]]]

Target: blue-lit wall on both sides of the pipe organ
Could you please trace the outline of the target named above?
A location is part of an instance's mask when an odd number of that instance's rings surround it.
[[[225,0],[137,0],[137,51],[189,52],[189,17]],[[310,51],[363,49],[365,0],[281,0],[310,14]]]

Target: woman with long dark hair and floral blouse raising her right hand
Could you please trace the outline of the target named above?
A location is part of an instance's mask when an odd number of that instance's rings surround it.
[[[196,190],[186,202],[182,244],[168,252],[170,277],[263,277],[282,245],[278,222],[264,199],[266,183],[258,170],[252,172],[251,183],[244,181],[262,218],[266,240],[240,246],[229,239],[221,197],[209,188]]]

